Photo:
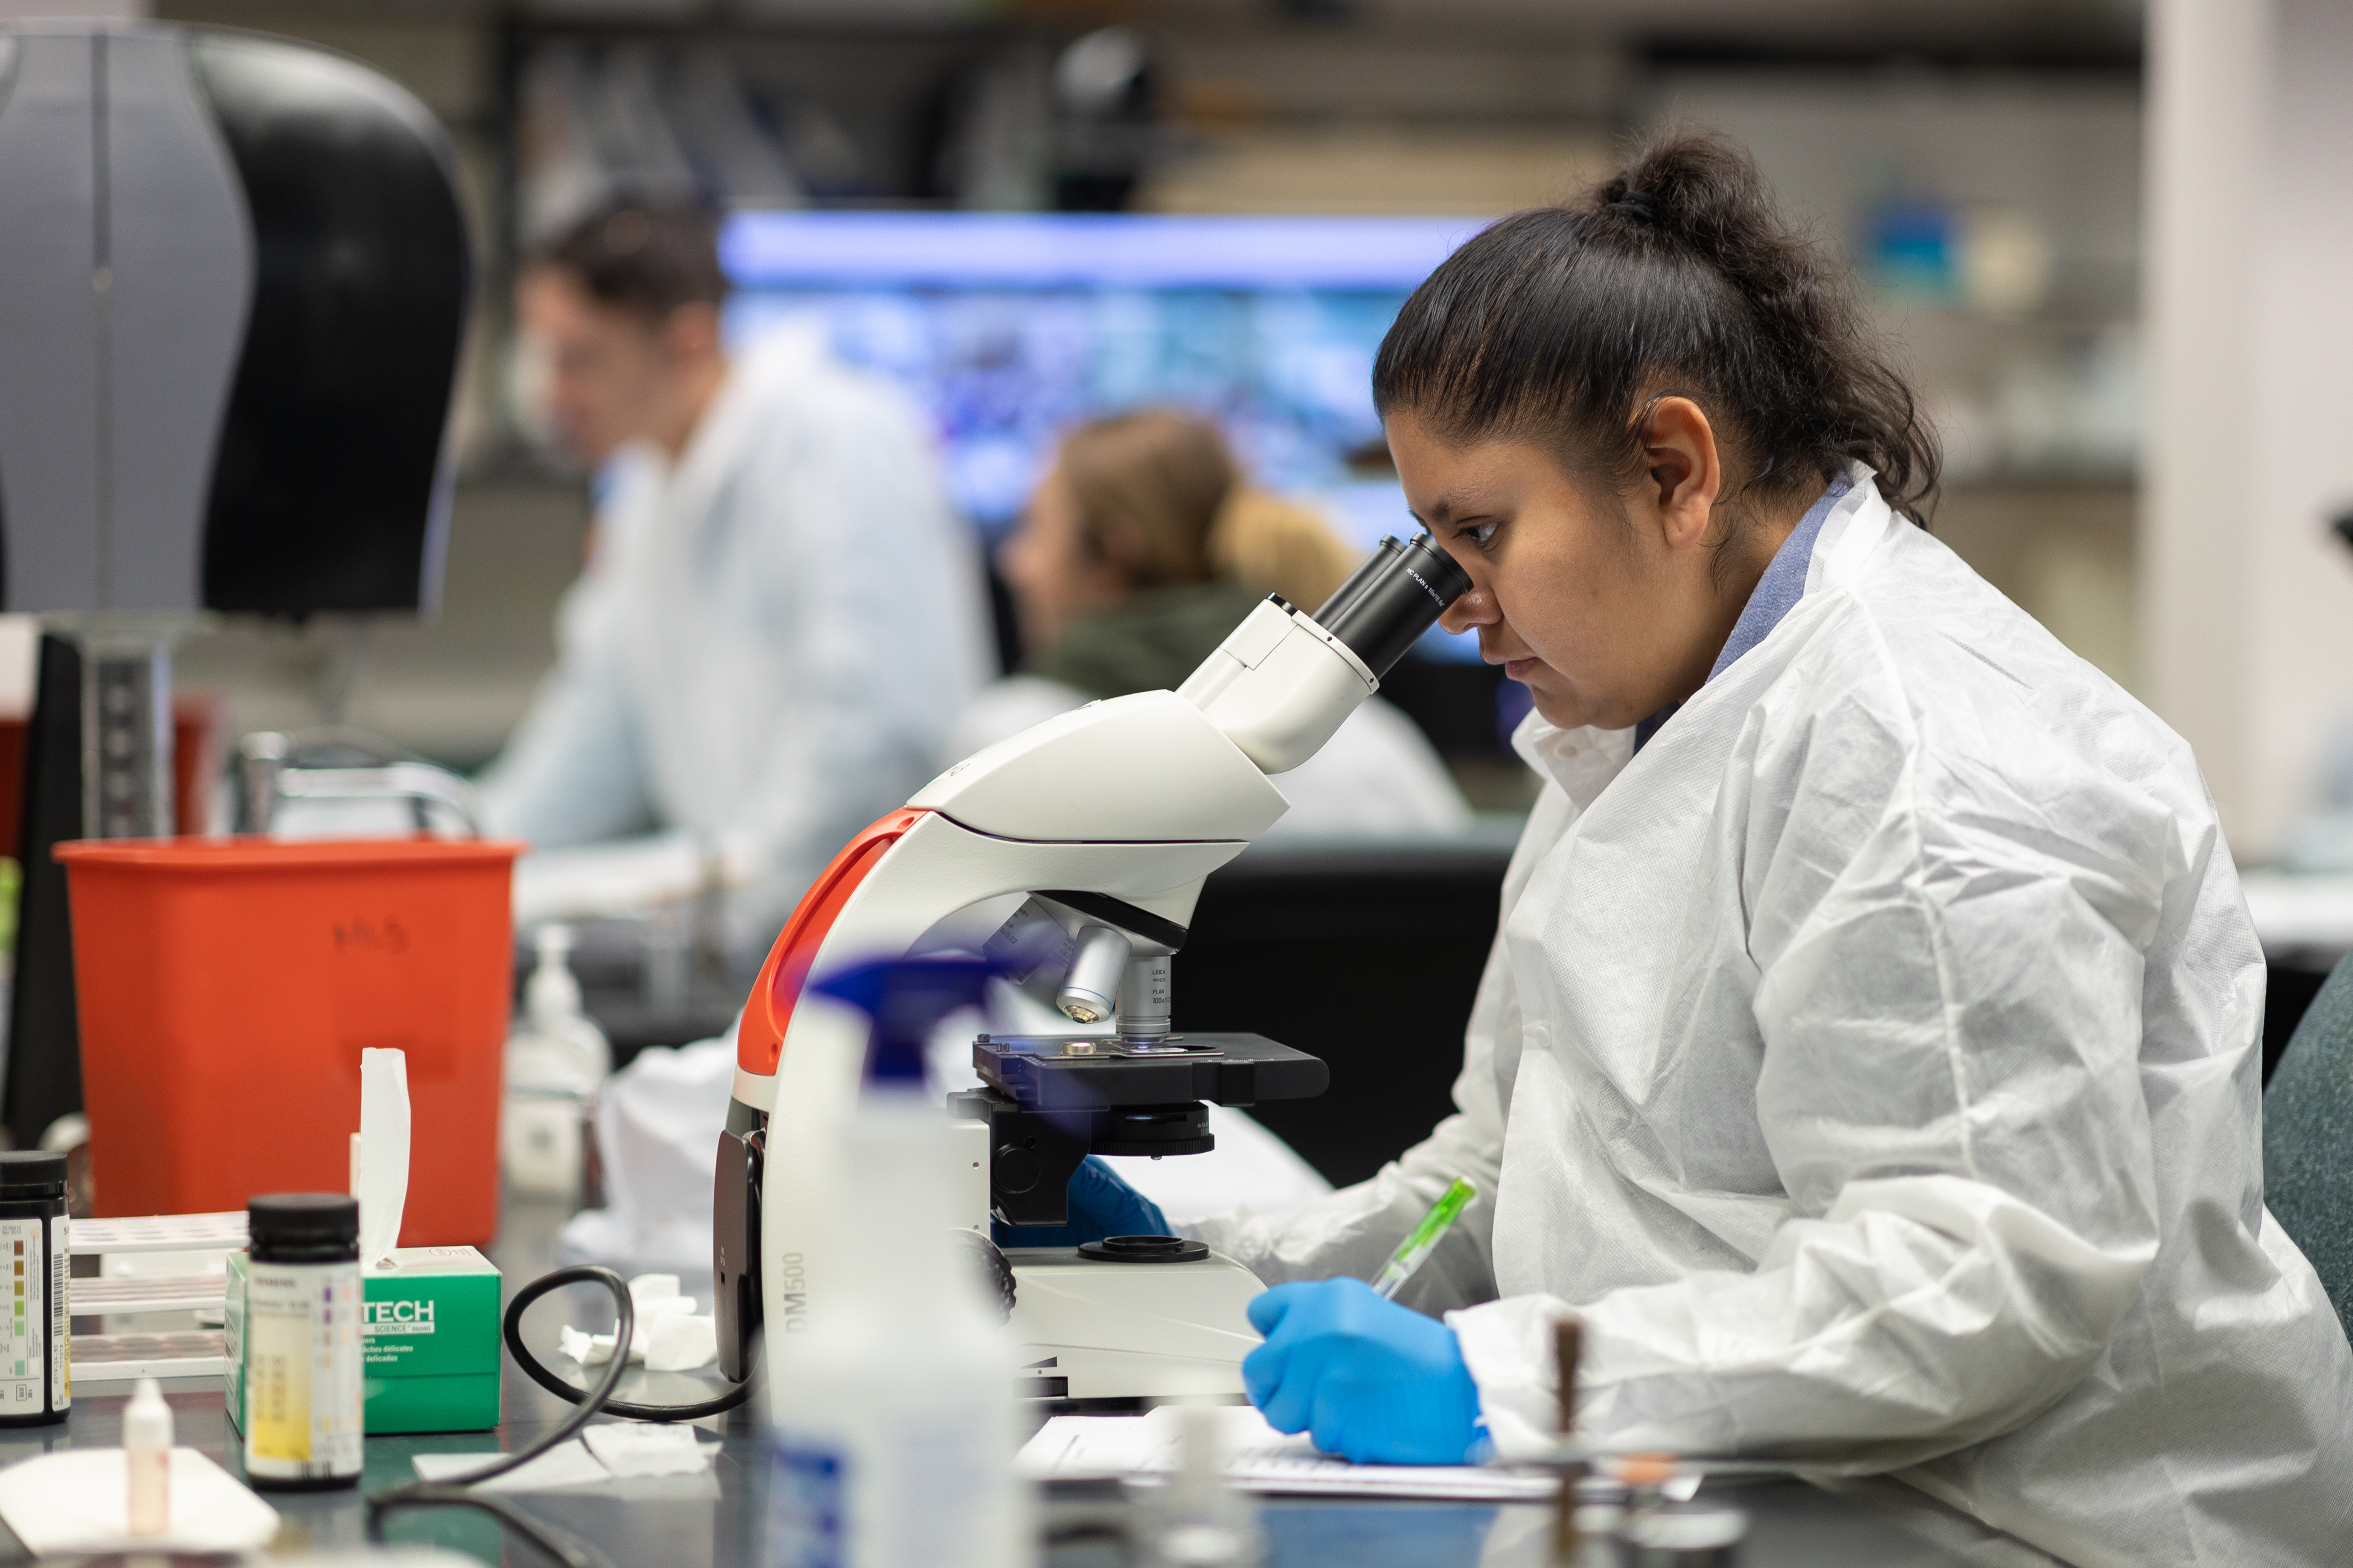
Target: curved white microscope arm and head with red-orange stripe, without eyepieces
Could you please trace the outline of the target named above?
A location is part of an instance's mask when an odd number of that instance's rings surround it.
[[[762,1326],[793,1333],[828,1281],[826,1218],[847,1180],[831,1128],[856,1103],[866,1020],[805,992],[807,978],[925,940],[979,947],[1040,886],[1085,889],[1132,905],[1136,924],[1181,929],[1202,879],[1285,809],[1198,708],[1144,691],[960,762],[835,856],[786,922],[736,1025],[713,1234],[729,1378],[748,1373]],[[1167,837],[1139,839],[1139,818]],[[988,1133],[972,1131],[972,1213],[984,1218]]]

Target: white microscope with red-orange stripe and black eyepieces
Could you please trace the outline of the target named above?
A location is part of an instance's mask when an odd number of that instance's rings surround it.
[[[1322,1093],[1325,1065],[1257,1034],[1172,1027],[1172,959],[1202,879],[1289,802],[1313,757],[1471,578],[1428,534],[1384,538],[1313,616],[1268,597],[1176,691],[1089,703],[1000,741],[866,827],[809,886],[736,1032],[720,1133],[713,1272],[720,1366],[793,1333],[828,1288],[816,1215],[847,1192],[828,1126],[859,1093],[866,1018],[807,987],[859,961],[979,952],[1075,1034],[981,1034],[981,1088],[951,1095],[965,1211],[1066,1222],[1087,1154],[1200,1154],[1207,1105]],[[1108,1032],[1101,1025],[1111,1025]],[[1012,1248],[1009,1321],[1045,1399],[1242,1392],[1259,1281],[1176,1237]]]

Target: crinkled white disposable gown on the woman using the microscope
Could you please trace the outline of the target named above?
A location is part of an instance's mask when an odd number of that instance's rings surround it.
[[[2353,1352],[2264,1211],[2264,959],[2165,724],[1859,482],[1638,755],[1518,743],[1457,1114],[1193,1234],[1367,1276],[1468,1175],[1407,1300],[1506,1455],[1577,1309],[1612,1448],[1892,1472],[1979,1561],[2353,1556]]]

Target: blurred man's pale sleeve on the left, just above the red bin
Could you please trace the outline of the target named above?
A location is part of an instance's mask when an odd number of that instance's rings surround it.
[[[609,590],[595,564],[569,588],[555,668],[480,778],[489,830],[534,849],[598,844],[652,825],[645,743],[628,710]]]

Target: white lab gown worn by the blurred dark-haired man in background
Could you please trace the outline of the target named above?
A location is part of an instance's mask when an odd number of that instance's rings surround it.
[[[936,771],[981,679],[979,552],[913,407],[779,329],[678,463],[614,458],[558,663],[482,780],[536,849],[671,830],[748,886],[758,959],[849,837]]]

